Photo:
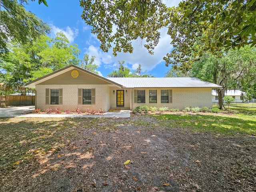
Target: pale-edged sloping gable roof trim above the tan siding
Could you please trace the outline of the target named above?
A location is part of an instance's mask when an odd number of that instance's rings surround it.
[[[99,76],[99,75],[97,75],[97,74],[95,74],[95,73],[93,73],[93,72],[90,72],[90,71],[88,71],[88,70],[85,70],[85,69],[83,69],[83,68],[81,68],[81,67],[78,67],[78,66],[76,66],[76,65],[73,65],[73,64],[71,64],[71,65],[69,65],[69,66],[66,66],[66,67],[64,67],[64,68],[61,68],[61,69],[59,69],[59,70],[56,70],[56,71],[54,71],[54,72],[52,72],[52,73],[50,73],[50,74],[48,74],[48,75],[42,76],[42,77],[40,77],[40,78],[38,78],[38,79],[36,79],[36,80],[33,80],[33,81],[31,81],[31,82],[28,82],[25,87],[27,87],[27,88],[36,88],[36,85],[37,85],[37,84],[43,83],[43,82],[45,82],[45,81],[47,81],[47,80],[50,80],[50,79],[52,79],[52,78],[54,78],[54,77],[56,77],[56,76],[59,76],[59,75],[61,75],[61,74],[64,74],[64,73],[66,73],[66,72],[68,72],[68,71],[70,71],[70,70],[72,70],[72,69],[77,69],[77,70],[82,71],[82,72],[84,72],[84,73],[90,74],[90,75],[92,75],[92,76],[94,76],[94,77],[96,77],[96,78],[99,78],[99,79],[101,79],[101,80],[103,80],[103,81],[105,81],[105,82],[108,82],[109,84],[118,86],[119,88],[122,87],[121,84],[118,84],[118,83],[116,83],[116,82],[113,82],[113,81],[111,81],[111,80],[109,80],[109,79],[107,79],[107,78],[104,78],[104,77],[102,77],[102,76]]]

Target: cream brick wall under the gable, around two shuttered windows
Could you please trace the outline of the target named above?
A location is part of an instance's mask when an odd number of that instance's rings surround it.
[[[45,90],[50,89],[63,89],[63,104],[62,105],[46,105],[45,104]],[[78,105],[78,89],[91,89],[95,88],[95,104],[91,105]],[[46,108],[61,108],[62,110],[74,111],[79,108],[82,112],[85,112],[87,108],[91,108],[98,112],[100,108],[104,112],[110,109],[110,87],[106,85],[37,85],[36,86],[36,108],[41,110]]]

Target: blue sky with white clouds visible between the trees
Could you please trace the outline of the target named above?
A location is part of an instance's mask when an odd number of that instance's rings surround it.
[[[165,0],[168,6],[177,6],[180,0]],[[44,4],[38,4],[37,1],[30,2],[26,5],[26,10],[36,14],[44,22],[48,23],[52,28],[51,37],[57,32],[62,31],[70,43],[78,44],[81,50],[79,56],[82,59],[84,54],[96,56],[95,64],[98,65],[100,75],[106,77],[111,71],[116,69],[118,61],[125,61],[125,66],[132,71],[136,70],[139,64],[142,65],[142,70],[147,71],[147,74],[152,74],[155,77],[164,77],[169,67],[165,66],[162,58],[166,53],[172,50],[170,46],[170,36],[166,35],[166,28],[161,30],[161,38],[158,46],[154,49],[154,55],[148,53],[140,41],[133,41],[134,52],[118,53],[115,57],[110,49],[108,53],[102,52],[100,42],[90,33],[90,26],[87,26],[82,20],[82,8],[78,0],[47,0],[48,7]],[[144,41],[145,42],[145,41]]]

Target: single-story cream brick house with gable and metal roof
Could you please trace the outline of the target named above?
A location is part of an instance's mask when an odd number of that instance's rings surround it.
[[[212,108],[212,88],[198,78],[104,78],[69,65],[26,84],[36,89],[35,107],[82,112],[87,108],[133,109],[136,106]]]

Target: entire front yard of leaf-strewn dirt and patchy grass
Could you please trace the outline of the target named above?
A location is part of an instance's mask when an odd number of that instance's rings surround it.
[[[0,191],[253,192],[248,115],[1,118]]]

